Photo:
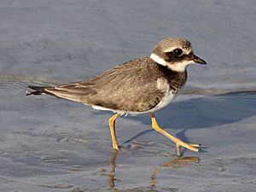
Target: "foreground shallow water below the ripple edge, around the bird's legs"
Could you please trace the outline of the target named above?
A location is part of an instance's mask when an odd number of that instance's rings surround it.
[[[32,82],[34,83],[34,82]],[[148,114],[117,122],[111,113],[52,96],[26,96],[28,82],[0,82],[1,191],[209,191],[255,187],[256,92],[181,95],[156,113],[166,131],[202,152],[175,156]],[[186,184],[183,185],[183,181]],[[211,189],[210,189],[211,188]]]

